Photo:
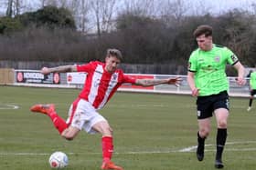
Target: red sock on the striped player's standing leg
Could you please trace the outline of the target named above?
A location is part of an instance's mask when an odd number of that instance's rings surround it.
[[[112,136],[103,136],[101,139],[103,162],[109,162],[112,159],[113,145]]]

